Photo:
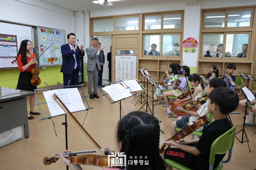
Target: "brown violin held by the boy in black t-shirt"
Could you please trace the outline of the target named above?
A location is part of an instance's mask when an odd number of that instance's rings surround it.
[[[189,125],[185,129],[182,128],[180,131],[178,131],[173,137],[171,137],[167,141],[172,141],[172,140],[178,141],[179,139],[188,136],[190,133],[196,131],[197,129],[199,129],[200,127],[202,127],[208,123],[210,123],[210,120],[208,119],[208,117],[206,115],[204,115],[204,116],[200,117],[199,119],[195,120],[194,124]],[[166,144],[164,143],[164,145],[161,147],[161,149],[159,149],[159,153],[164,152],[165,147],[166,147]]]

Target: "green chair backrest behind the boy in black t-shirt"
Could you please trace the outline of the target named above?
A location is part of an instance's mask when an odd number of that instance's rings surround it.
[[[234,139],[236,133],[236,126],[226,131],[223,135],[215,139],[212,143],[211,152],[210,152],[210,164],[214,164],[215,154],[225,154],[234,146]]]

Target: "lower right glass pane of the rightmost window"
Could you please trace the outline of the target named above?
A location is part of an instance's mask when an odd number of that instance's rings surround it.
[[[249,34],[227,34],[225,57],[246,58]]]

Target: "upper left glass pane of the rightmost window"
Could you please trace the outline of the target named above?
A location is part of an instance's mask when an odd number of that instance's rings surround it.
[[[204,14],[205,28],[224,28],[225,12],[213,12]]]

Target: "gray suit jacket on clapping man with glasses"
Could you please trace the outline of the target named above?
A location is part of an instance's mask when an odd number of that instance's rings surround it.
[[[100,51],[100,55],[97,55],[97,51],[94,51],[92,46],[85,49],[87,54],[87,66],[86,70],[93,71],[98,66],[98,69],[100,70],[100,58],[103,57],[104,52]]]

